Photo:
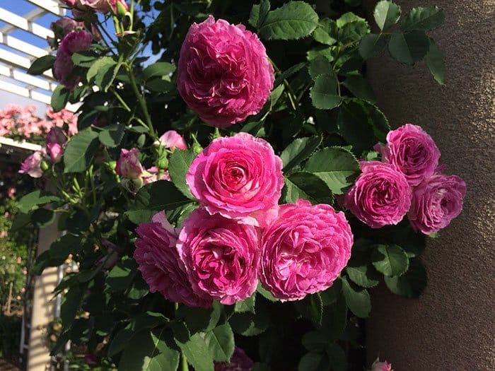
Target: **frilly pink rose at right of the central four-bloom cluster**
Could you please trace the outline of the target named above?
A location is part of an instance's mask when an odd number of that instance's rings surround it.
[[[282,205],[279,218],[262,233],[260,281],[283,301],[318,293],[344,269],[352,243],[342,211],[302,199]]]

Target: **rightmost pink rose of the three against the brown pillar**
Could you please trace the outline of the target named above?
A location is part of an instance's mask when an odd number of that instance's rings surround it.
[[[436,174],[414,188],[409,221],[426,235],[449,225],[462,211],[466,183],[456,175]]]

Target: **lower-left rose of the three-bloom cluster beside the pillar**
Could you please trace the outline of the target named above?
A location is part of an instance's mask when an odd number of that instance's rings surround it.
[[[411,187],[402,172],[378,161],[361,162],[361,171],[344,206],[371,228],[399,223],[411,206]]]

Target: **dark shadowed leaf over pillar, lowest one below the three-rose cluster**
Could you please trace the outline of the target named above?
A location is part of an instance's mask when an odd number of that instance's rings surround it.
[[[404,298],[418,298],[426,288],[427,282],[426,269],[417,258],[409,260],[409,269],[402,276],[385,276],[388,289]]]

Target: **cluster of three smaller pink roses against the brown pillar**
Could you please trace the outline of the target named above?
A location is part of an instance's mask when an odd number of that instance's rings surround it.
[[[466,184],[441,173],[440,151],[420,126],[405,124],[375,149],[382,162],[362,161],[362,173],[345,195],[344,206],[371,228],[397,224],[408,213],[414,230],[445,228],[462,211]]]

